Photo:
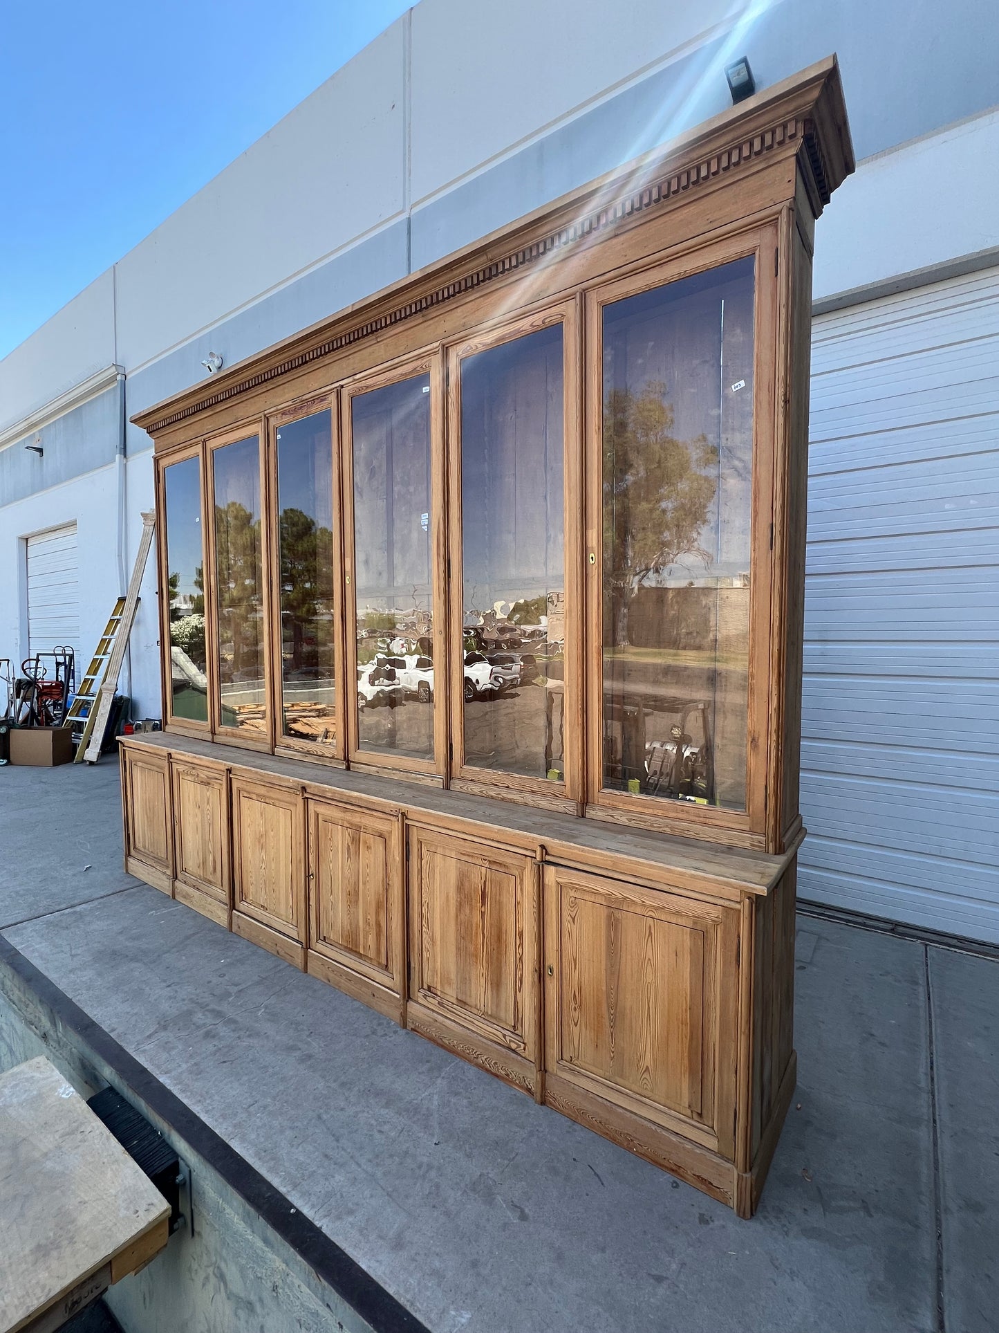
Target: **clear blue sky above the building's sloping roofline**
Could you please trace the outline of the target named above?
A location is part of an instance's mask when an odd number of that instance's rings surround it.
[[[409,4],[4,4],[0,357]]]

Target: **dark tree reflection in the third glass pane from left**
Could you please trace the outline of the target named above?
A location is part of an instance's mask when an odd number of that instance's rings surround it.
[[[284,652],[290,652],[292,670],[316,668],[320,665],[316,620],[333,612],[333,533],[317,527],[301,509],[282,509],[278,529]]]

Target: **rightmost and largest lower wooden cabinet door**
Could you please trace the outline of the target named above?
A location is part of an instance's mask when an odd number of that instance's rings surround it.
[[[547,865],[546,1100],[730,1158],[738,930],[734,908]]]

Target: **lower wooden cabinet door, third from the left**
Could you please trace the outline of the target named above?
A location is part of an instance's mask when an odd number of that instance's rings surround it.
[[[232,776],[233,930],[305,965],[301,789]]]

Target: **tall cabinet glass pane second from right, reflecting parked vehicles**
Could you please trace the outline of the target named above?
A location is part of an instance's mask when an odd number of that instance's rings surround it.
[[[461,363],[465,762],[562,781],[562,327]]]

